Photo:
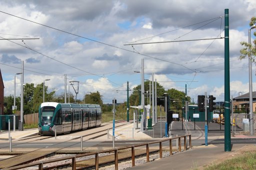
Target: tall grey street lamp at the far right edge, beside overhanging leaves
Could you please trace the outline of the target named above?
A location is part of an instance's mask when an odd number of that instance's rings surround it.
[[[250,123],[250,135],[253,135],[253,106],[252,106],[252,77],[251,77],[251,58],[250,58],[250,30],[256,28],[256,25],[253,25],[248,30],[248,60],[249,60],[249,123]]]

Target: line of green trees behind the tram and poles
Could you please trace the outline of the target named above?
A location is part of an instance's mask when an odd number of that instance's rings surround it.
[[[138,106],[140,105],[141,100],[141,85],[133,88],[131,95],[129,96],[129,106]],[[144,90],[145,90],[145,105],[149,104],[149,93],[152,94],[150,89],[149,91],[149,81],[144,82]],[[56,95],[55,90],[53,89],[51,92],[47,92],[48,87],[44,86],[44,101],[45,102],[57,102],[64,103],[64,93],[60,95]],[[163,86],[156,83],[156,91],[157,91],[157,105],[164,106],[164,93],[167,93],[170,96],[170,107],[174,109],[182,108],[182,101],[190,101],[190,97],[186,96],[184,92],[168,89],[164,90]],[[66,96],[68,97],[68,96]],[[76,100],[76,103],[88,103],[88,104],[98,104],[101,106],[103,112],[111,112],[112,111],[112,103],[103,104],[102,95],[98,91],[89,92],[84,95],[83,100]],[[152,95],[151,95],[152,98]],[[16,97],[16,106],[17,111],[20,110],[20,97]],[[68,99],[66,99],[68,100]],[[13,106],[14,96],[4,96],[4,114],[12,114],[12,106]],[[69,102],[74,103],[74,95],[70,94]],[[174,101],[174,102],[173,102]],[[24,93],[23,93],[23,112],[25,114],[37,113],[39,105],[43,102],[43,83],[37,84],[36,86],[33,83],[26,83],[24,85]],[[68,101],[67,101],[68,102]],[[116,110],[121,113],[126,112],[126,101],[117,101]]]

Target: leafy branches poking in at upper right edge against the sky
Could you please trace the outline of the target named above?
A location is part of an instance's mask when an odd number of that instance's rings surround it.
[[[251,17],[249,26],[253,26],[256,23],[256,17]],[[253,33],[256,36],[256,32]],[[251,62],[256,63],[255,56],[256,56],[256,39],[253,40],[251,44],[247,42],[240,42],[240,44],[244,47],[240,50],[240,59],[246,58],[247,56],[250,57]]]

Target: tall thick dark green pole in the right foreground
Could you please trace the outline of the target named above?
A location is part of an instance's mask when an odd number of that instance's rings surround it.
[[[224,151],[231,151],[230,139],[230,80],[229,80],[229,23],[228,9],[225,9],[225,44],[224,44]]]

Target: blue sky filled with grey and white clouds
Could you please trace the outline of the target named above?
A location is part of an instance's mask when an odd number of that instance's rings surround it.
[[[213,95],[224,101],[224,9],[229,9],[230,96],[249,91],[248,41],[255,0],[1,0],[0,70],[4,96],[14,94],[14,75],[24,63],[24,83],[64,93],[64,74],[79,81],[77,99],[98,91],[103,103],[124,102],[133,89],[154,79],[165,90]],[[251,30],[251,38],[254,30]],[[6,40],[17,38],[16,40]],[[39,38],[39,39],[26,39]],[[218,39],[215,39],[218,38]],[[182,41],[204,39],[198,41]],[[205,40],[208,39],[208,40]],[[168,43],[134,44],[145,42]],[[256,89],[252,64],[252,89]],[[16,75],[16,96],[20,75]],[[74,89],[77,89],[74,83]],[[69,86],[70,93],[75,95]],[[68,86],[67,86],[68,91]],[[131,94],[132,91],[129,91]]]

